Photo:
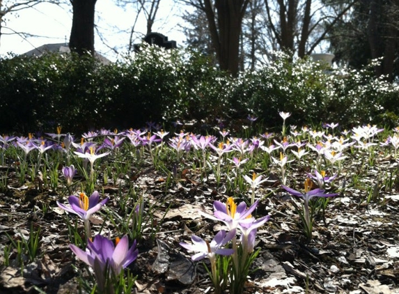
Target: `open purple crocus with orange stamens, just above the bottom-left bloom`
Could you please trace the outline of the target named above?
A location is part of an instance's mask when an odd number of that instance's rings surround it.
[[[100,201],[100,194],[97,191],[93,192],[90,197],[86,196],[84,193],[80,193],[79,196],[71,195],[68,197],[68,202],[70,206],[65,206],[63,203],[59,203],[57,201],[57,205],[59,208],[74,213],[75,215],[79,215],[81,219],[84,221],[88,220],[91,215],[97,210],[100,210],[102,206],[104,206],[107,201],[109,201],[109,197]]]

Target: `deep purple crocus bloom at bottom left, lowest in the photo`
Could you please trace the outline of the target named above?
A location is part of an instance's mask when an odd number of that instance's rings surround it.
[[[129,248],[127,235],[116,239],[116,246],[112,240],[102,235],[96,235],[93,242],[87,241],[86,251],[75,245],[70,249],[81,261],[93,268],[99,290],[104,291],[105,273],[118,275],[130,263],[136,260],[139,250],[136,249],[136,240]],[[112,286],[112,285],[111,285]]]

